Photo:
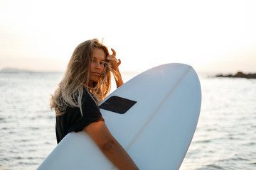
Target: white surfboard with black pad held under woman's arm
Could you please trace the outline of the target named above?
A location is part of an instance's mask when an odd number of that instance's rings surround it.
[[[107,128],[139,169],[178,169],[201,110],[198,76],[186,64],[139,74],[100,103]],[[69,133],[38,169],[116,169],[85,131]]]

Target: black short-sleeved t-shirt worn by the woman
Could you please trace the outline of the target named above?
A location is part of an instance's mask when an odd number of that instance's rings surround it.
[[[82,94],[82,115],[80,108],[67,107],[64,115],[56,116],[55,132],[58,143],[69,132],[79,132],[90,123],[104,121],[100,108],[85,89]]]

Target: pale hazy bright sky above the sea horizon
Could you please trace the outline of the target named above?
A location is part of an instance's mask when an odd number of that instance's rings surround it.
[[[171,62],[256,72],[256,1],[0,0],[0,69],[64,71],[75,47],[104,38],[122,72]]]

